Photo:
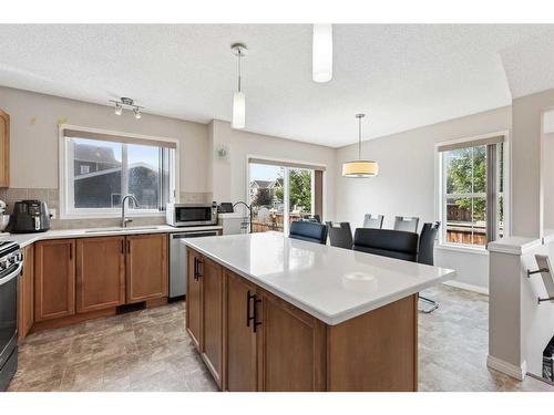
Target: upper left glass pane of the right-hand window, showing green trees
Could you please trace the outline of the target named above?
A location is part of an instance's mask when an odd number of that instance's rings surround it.
[[[447,178],[447,194],[472,193],[472,148],[460,148],[442,154]]]

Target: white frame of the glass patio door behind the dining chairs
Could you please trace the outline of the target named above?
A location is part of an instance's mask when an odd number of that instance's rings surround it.
[[[289,224],[288,224],[288,215],[290,214],[290,200],[289,200],[289,186],[288,186],[288,179],[289,179],[289,170],[290,169],[296,169],[296,168],[304,168],[304,169],[310,169],[312,170],[311,173],[311,211],[314,211],[315,209],[315,191],[314,191],[314,188],[315,188],[315,184],[316,184],[316,180],[315,180],[315,170],[312,168],[310,168],[310,166],[316,166],[316,167],[321,167],[324,168],[324,183],[322,183],[322,186],[321,186],[321,191],[322,191],[322,195],[321,195],[321,222],[325,222],[325,215],[326,215],[326,211],[327,211],[327,165],[325,164],[321,164],[321,163],[315,163],[315,162],[307,162],[307,160],[296,160],[296,159],[289,159],[289,158],[275,158],[275,157],[267,157],[267,156],[259,156],[259,155],[255,155],[255,154],[247,154],[246,155],[246,166],[245,166],[245,170],[246,170],[246,190],[245,190],[245,195],[246,195],[246,201],[247,204],[250,203],[250,166],[249,166],[249,159],[250,158],[256,158],[256,159],[259,159],[261,162],[264,160],[267,160],[268,163],[271,163],[271,164],[278,164],[278,163],[285,163],[285,164],[291,164],[291,165],[295,165],[294,167],[288,167],[288,166],[283,166],[285,168],[285,177],[283,178],[283,204],[284,204],[284,207],[283,207],[283,235],[287,235],[288,236],[288,231],[289,231]]]

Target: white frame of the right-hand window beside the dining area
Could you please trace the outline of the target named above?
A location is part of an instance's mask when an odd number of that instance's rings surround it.
[[[486,133],[478,136],[472,136],[472,137],[464,137],[464,138],[458,138],[458,139],[449,139],[440,143],[434,144],[434,200],[435,200],[435,209],[434,209],[434,217],[435,220],[441,222],[441,232],[439,235],[439,240],[438,240],[438,248],[440,249],[448,249],[448,250],[453,250],[453,251],[464,251],[464,252],[476,252],[476,253],[486,253],[486,247],[485,246],[476,246],[476,245],[464,245],[464,243],[449,243],[447,242],[447,224],[445,224],[445,216],[444,216],[444,200],[445,200],[445,183],[443,180],[444,178],[444,167],[442,163],[442,153],[439,152],[439,147],[447,145],[447,144],[468,144],[468,147],[471,147],[471,143],[483,139],[483,138],[490,138],[490,137],[497,137],[497,136],[504,136],[504,142],[503,142],[503,159],[504,159],[504,165],[503,165],[503,178],[504,178],[504,185],[503,185],[503,190],[502,196],[504,197],[504,230],[503,230],[503,237],[506,238],[511,236],[511,207],[512,207],[512,198],[511,198],[511,151],[510,151],[510,132],[506,129],[503,131],[497,131],[493,133]],[[500,177],[500,175],[497,175]],[[468,197],[471,197],[472,195],[479,196],[480,194],[469,194]]]

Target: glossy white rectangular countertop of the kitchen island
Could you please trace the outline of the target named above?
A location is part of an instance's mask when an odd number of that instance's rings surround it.
[[[455,277],[455,271],[285,238],[279,232],[183,239],[327,324],[335,325]]]

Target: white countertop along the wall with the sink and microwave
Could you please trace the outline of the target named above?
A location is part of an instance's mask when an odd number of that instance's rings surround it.
[[[45,239],[66,239],[66,238],[93,238],[109,237],[117,235],[141,235],[141,234],[184,234],[203,230],[220,230],[220,226],[194,226],[175,228],[168,225],[152,225],[136,226],[127,228],[90,228],[90,229],[58,229],[48,230],[38,234],[0,234],[0,240],[12,240],[21,246],[27,247],[38,240]]]

